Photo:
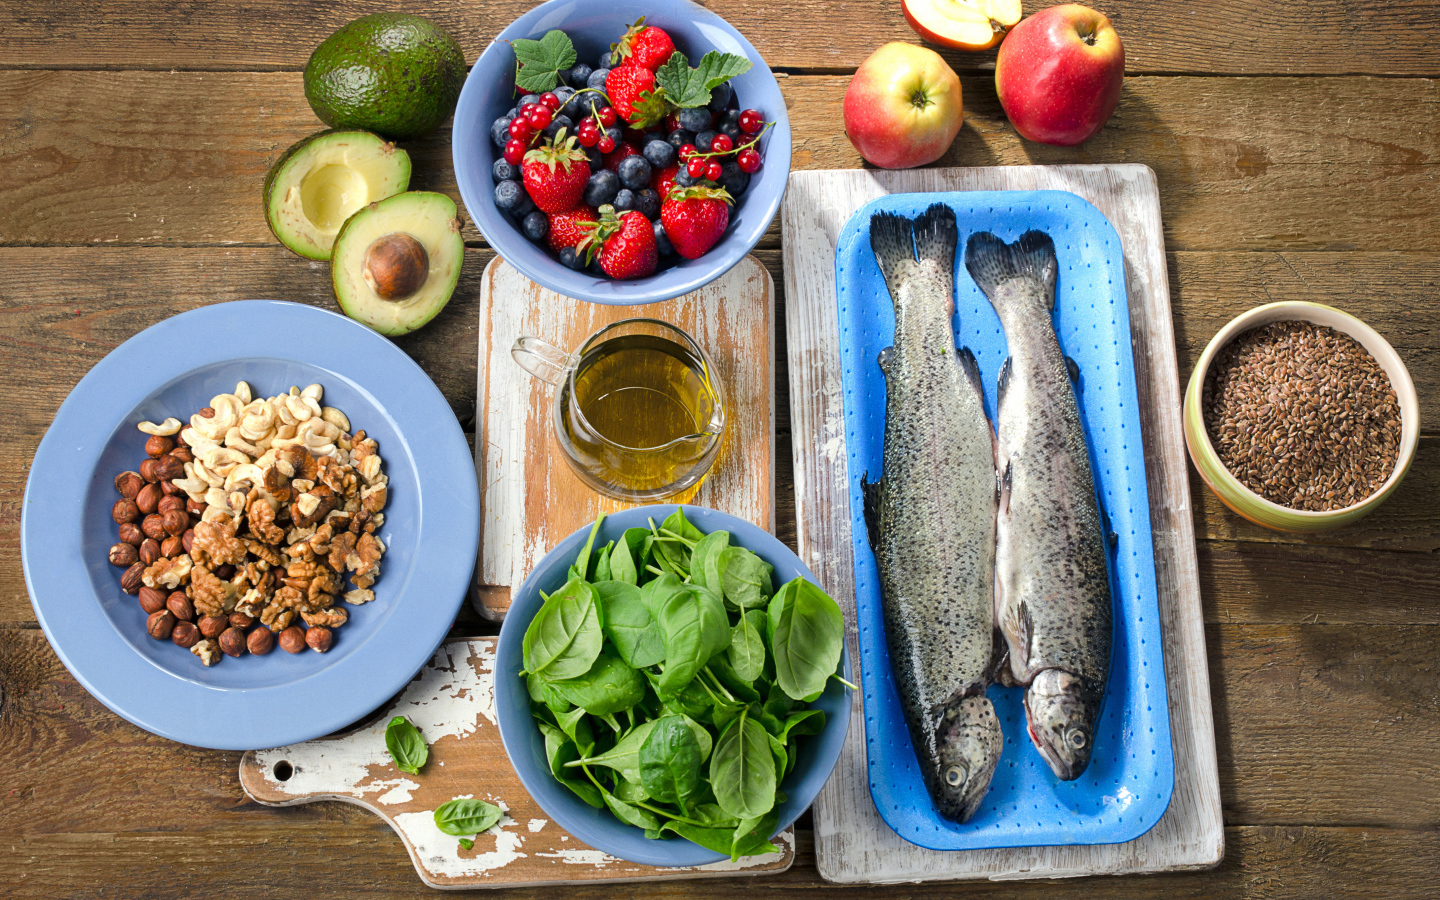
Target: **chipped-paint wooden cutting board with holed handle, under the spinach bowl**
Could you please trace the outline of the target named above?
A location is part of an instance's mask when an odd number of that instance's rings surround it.
[[[246,752],[240,786],[266,806],[343,801],[374,812],[395,828],[420,880],[439,888],[750,876],[791,867],[793,829],[776,838],[780,852],[697,868],[636,865],[566,834],[530,799],[505,756],[495,726],[494,661],[495,638],[446,641],[399,697],[354,732]],[[396,769],[384,749],[393,716],[409,717],[429,744],[419,775]],[[435,809],[456,796],[505,811],[471,850],[435,827]]]

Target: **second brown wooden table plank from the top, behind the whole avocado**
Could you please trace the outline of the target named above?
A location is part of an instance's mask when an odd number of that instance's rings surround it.
[[[966,125],[942,166],[1145,163],[1171,251],[1440,251],[1440,131],[1414,125],[1440,81],[1130,78],[1079,148],[1021,141],[994,82],[962,81]],[[782,81],[796,170],[861,164],[847,84]],[[0,72],[0,121],[16,122],[0,131],[0,243],[272,243],[265,170],[321,127],[287,72]],[[413,186],[456,196],[449,131],[408,147]]]

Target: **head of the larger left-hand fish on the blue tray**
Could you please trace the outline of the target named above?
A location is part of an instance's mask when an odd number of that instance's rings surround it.
[[[956,822],[975,815],[989,791],[1002,744],[999,719],[988,697],[959,697],[945,706],[936,746],[939,783],[932,791],[940,815]]]

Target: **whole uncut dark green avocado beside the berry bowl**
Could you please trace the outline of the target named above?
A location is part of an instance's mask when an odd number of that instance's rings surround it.
[[[465,55],[429,19],[374,13],[325,37],[305,63],[305,99],[331,128],[389,138],[433,131],[455,111]]]

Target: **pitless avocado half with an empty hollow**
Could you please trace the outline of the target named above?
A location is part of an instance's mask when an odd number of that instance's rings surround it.
[[[321,131],[265,176],[265,222],[308,259],[330,259],[340,226],[366,203],[410,184],[410,154],[369,131]]]

